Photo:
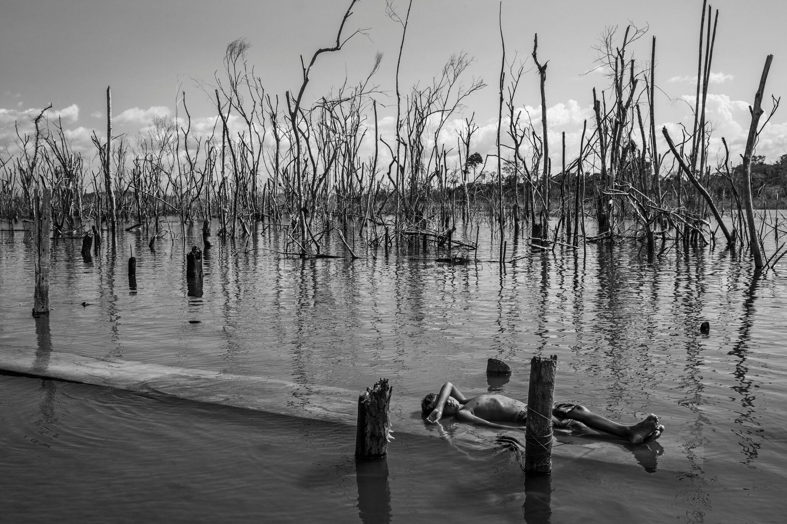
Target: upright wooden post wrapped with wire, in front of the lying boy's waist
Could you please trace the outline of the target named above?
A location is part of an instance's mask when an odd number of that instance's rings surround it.
[[[527,390],[527,434],[525,472],[552,471],[552,399],[555,393],[557,355],[534,356],[530,360],[530,387]]]

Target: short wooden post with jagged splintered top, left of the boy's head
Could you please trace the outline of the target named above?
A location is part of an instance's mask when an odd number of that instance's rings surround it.
[[[387,378],[380,378],[358,397],[358,425],[355,434],[355,456],[367,459],[386,456],[390,440],[388,407],[393,388]]]

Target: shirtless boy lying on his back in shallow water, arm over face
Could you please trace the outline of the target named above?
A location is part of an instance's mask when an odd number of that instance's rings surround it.
[[[451,382],[443,384],[439,395],[430,393],[423,397],[421,411],[423,411],[423,415],[428,415],[427,421],[430,423],[438,422],[443,415],[456,415],[457,419],[486,424],[502,430],[524,430],[524,426],[502,426],[490,423],[487,419],[513,420],[519,423],[523,423],[527,419],[527,404],[519,402],[519,400],[503,395],[481,395],[465,398]],[[604,431],[604,433],[624,438],[634,444],[655,441],[664,430],[664,426],[659,424],[659,418],[653,414],[632,426],[624,426],[605,419],[601,415],[596,415],[585,406],[555,403],[552,409],[552,422],[556,427],[570,429],[572,420],[585,424],[593,430]],[[575,423],[573,425],[575,426]]]

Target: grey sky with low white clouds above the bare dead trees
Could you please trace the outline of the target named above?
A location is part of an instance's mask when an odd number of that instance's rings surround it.
[[[407,0],[393,2],[404,17]],[[216,118],[204,86],[221,74],[227,43],[245,37],[251,43],[249,65],[270,94],[283,98],[301,83],[300,56],[332,45],[349,0],[4,0],[0,7],[0,150],[13,151],[14,122],[24,130],[31,116],[50,103],[50,120],[61,116],[77,150],[93,154],[90,135],[105,136],[105,90],[112,87],[114,132],[133,137],[153,116],[173,116],[179,91],[185,91],[195,120],[209,127]],[[733,156],[745,144],[752,103],[767,54],[774,54],[766,88],[787,90],[787,48],[783,0],[721,0],[708,113],[720,137],[726,136]],[[620,34],[627,24],[648,27],[634,44],[634,58],[650,58],[656,36],[656,120],[678,132],[690,126],[696,76],[701,0],[413,0],[401,61],[401,86],[428,82],[451,54],[475,57],[468,70],[488,87],[467,101],[464,116],[475,113],[481,127],[474,150],[492,153],[497,119],[497,82],[501,64],[498,9],[509,61],[523,60],[526,73],[517,104],[540,114],[538,74],[530,53],[538,33],[538,57],[549,61],[546,105],[552,151],[560,131],[568,149],[578,147],[582,120],[591,119],[592,89],[608,87],[593,72],[599,35],[610,26]],[[331,86],[363,79],[383,53],[374,81],[379,84],[381,132],[393,135],[390,117],[401,25],[386,16],[384,0],[361,0],[353,9],[345,34],[356,29],[345,47],[323,54],[312,70],[305,95],[313,101]],[[590,72],[589,72],[590,71]],[[387,106],[383,107],[383,106]],[[182,116],[182,106],[178,109]],[[386,119],[387,116],[387,119]],[[460,118],[463,115],[457,115]],[[534,119],[535,120],[535,119]],[[25,127],[28,126],[28,127]],[[450,126],[449,126],[450,131]],[[757,153],[775,161],[787,153],[787,108],[779,109],[763,130]],[[559,158],[553,159],[559,161]]]

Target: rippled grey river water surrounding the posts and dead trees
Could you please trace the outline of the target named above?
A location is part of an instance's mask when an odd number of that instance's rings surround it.
[[[34,246],[7,227],[0,348],[354,391],[385,377],[404,399],[393,429],[417,430],[357,463],[353,426],[3,374],[5,522],[783,522],[787,257],[754,275],[721,248],[649,263],[636,242],[542,253],[519,238],[508,253],[522,258],[501,270],[437,263],[433,245],[386,259],[354,230],[360,259],[299,260],[275,253],[282,227],[257,223],[210,250],[200,293],[183,261],[198,228],[184,243],[173,223],[155,251],[144,231],[90,259],[79,240],[54,241],[54,310],[33,319]],[[476,227],[461,232],[475,240]],[[479,238],[478,259],[495,258],[488,225]],[[335,239],[324,250],[344,254]],[[552,475],[526,485],[493,445],[500,431],[420,426],[412,399],[447,380],[524,400],[536,354],[557,355],[556,400],[623,423],[656,413],[667,431],[650,445],[560,437]],[[510,379],[487,378],[491,356]]]

